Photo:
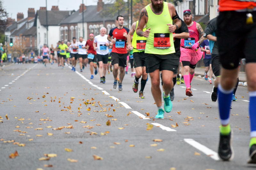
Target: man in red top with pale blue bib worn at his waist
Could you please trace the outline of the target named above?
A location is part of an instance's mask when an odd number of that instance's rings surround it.
[[[95,69],[94,74],[96,75],[98,73],[97,70],[97,53],[94,50],[93,47],[93,41],[94,41],[94,34],[89,34],[90,39],[86,41],[85,46],[88,49],[88,59],[89,59],[89,65],[90,65],[90,71],[91,71],[91,79],[93,78],[93,67]]]

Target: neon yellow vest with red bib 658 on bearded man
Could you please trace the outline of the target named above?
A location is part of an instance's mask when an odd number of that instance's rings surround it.
[[[151,28],[147,38],[145,53],[166,55],[175,53],[172,33],[167,24],[172,24],[172,17],[168,9],[168,3],[164,2],[164,9],[160,15],[154,14],[149,4],[146,6],[148,23],[146,29]]]

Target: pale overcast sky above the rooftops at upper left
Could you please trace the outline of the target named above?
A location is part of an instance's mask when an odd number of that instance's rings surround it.
[[[8,16],[17,20],[17,13],[23,12],[24,18],[28,17],[28,8],[39,10],[40,6],[46,6],[45,0],[2,0]],[[85,5],[97,5],[98,0],[84,0]],[[82,0],[47,0],[47,9],[52,5],[58,5],[60,10],[78,10]]]

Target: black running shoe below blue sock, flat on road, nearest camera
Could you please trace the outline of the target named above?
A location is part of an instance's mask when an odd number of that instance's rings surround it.
[[[218,150],[218,155],[220,159],[224,161],[229,161],[234,158],[234,152],[232,149],[232,137],[231,137],[231,132],[229,135],[222,135],[220,133],[220,143],[219,143],[219,150]]]

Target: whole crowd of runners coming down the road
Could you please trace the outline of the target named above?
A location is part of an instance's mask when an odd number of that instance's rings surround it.
[[[50,49],[45,44],[41,49],[44,65],[49,59],[53,63],[54,51],[57,51],[60,67],[64,68],[66,63],[72,66],[72,71],[79,68],[78,71],[83,72],[88,65],[90,78],[93,79],[99,73],[102,84],[106,83],[106,73],[113,72],[113,80],[108,81],[113,82],[114,89],[122,91],[122,82],[130,61],[131,76],[134,77],[131,84],[133,92],[139,91],[139,97],[145,98],[143,91],[149,75],[158,110],[155,118],[164,119],[164,112],[172,111],[176,83],[185,84],[184,93],[193,96],[191,82],[196,64],[204,57],[204,79],[209,84],[213,83],[211,99],[213,102],[218,99],[219,103],[221,125],[218,154],[222,160],[231,160],[234,156],[229,123],[231,101],[236,101],[240,60],[246,58],[251,120],[248,163],[255,164],[256,57],[253,51],[256,44],[256,2],[220,0],[219,5],[219,16],[212,19],[203,30],[199,23],[192,20],[191,10],[183,11],[183,17],[180,18],[173,4],[151,0],[151,4],[140,11],[139,20],[130,29],[123,26],[124,17],[119,15],[116,17],[117,26],[109,33],[102,27],[99,35],[90,33],[87,41],[83,37],[78,40],[73,37],[72,42],[65,44],[59,41],[56,47],[52,45]]]

